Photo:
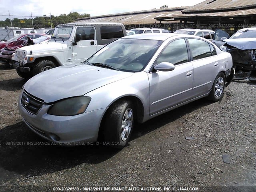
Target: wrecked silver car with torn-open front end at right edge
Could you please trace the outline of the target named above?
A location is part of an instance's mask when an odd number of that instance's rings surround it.
[[[246,79],[251,71],[256,71],[256,28],[238,30],[230,38],[226,32],[218,29],[213,43],[232,55],[233,67],[239,72],[236,74],[238,79]]]

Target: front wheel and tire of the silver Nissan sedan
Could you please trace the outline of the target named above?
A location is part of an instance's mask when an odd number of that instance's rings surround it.
[[[135,117],[134,105],[130,100],[121,100],[113,104],[104,120],[104,141],[113,148],[124,148],[130,140]]]

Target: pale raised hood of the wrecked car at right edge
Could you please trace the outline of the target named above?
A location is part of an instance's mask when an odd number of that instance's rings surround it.
[[[256,38],[226,39],[225,42],[240,50],[256,49]]]

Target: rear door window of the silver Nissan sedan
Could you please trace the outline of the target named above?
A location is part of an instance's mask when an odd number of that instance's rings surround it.
[[[192,50],[193,60],[212,56],[209,43],[200,39],[188,39]]]

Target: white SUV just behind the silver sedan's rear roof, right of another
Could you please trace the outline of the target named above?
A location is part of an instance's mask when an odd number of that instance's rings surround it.
[[[176,30],[174,33],[195,35],[212,41],[215,32],[208,29],[179,29]]]

